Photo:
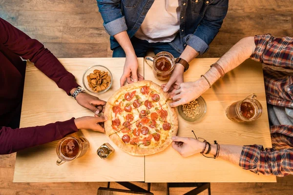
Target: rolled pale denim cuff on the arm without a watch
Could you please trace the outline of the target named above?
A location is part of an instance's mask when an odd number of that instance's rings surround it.
[[[123,31],[127,30],[125,17],[118,18],[116,20],[110,21],[106,24],[104,24],[105,31],[110,35],[114,36],[118,33],[121,33]]]

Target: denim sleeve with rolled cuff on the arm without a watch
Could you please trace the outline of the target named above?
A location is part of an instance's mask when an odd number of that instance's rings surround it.
[[[99,12],[104,20],[105,31],[114,36],[127,30],[125,17],[122,16],[121,0],[97,0]]]

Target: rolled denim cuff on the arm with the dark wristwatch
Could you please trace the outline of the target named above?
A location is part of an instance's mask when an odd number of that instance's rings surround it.
[[[203,40],[200,39],[199,37],[189,34],[184,38],[185,42],[195,49],[199,54],[204,54],[206,51],[209,50],[209,45]]]

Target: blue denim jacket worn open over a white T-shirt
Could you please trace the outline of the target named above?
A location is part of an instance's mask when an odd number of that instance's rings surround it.
[[[181,0],[180,30],[169,44],[179,53],[189,45],[200,54],[209,49],[228,11],[229,0]],[[131,39],[142,25],[154,0],[97,0],[111,49],[119,46],[114,35],[127,31]],[[154,22],[160,22],[160,19]]]

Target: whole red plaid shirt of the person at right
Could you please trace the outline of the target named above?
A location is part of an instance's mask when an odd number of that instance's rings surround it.
[[[256,48],[251,59],[268,66],[293,70],[293,38],[270,34],[254,37]],[[293,73],[263,69],[267,103],[293,108]],[[270,127],[272,148],[243,146],[239,166],[254,173],[287,176],[293,174],[293,125]]]

